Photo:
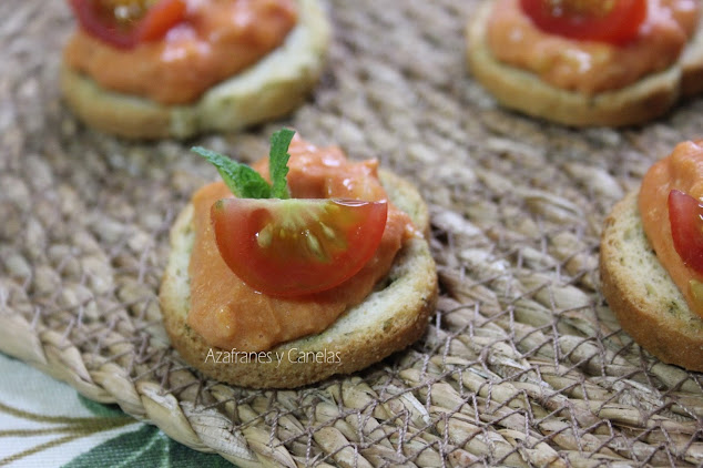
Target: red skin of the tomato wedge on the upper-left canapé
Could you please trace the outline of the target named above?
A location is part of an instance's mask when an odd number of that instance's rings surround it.
[[[120,49],[163,38],[183,21],[186,11],[185,0],[159,0],[141,19],[125,28],[105,13],[100,0],[69,0],[69,3],[86,32]]]

